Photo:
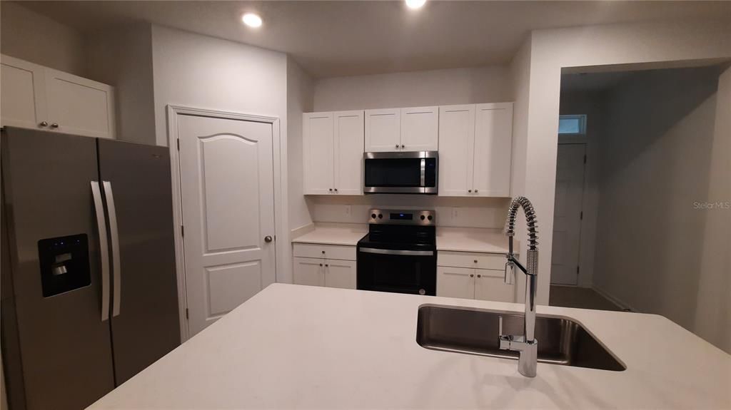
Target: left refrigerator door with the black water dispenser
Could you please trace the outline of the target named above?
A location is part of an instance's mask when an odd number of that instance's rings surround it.
[[[17,320],[17,335],[3,336],[17,336],[22,363],[5,376],[23,382],[27,409],[83,409],[114,387],[90,185],[98,179],[96,140],[20,128],[6,128],[1,138]]]

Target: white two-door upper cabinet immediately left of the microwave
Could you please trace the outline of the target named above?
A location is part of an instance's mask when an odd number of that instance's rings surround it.
[[[363,193],[363,111],[303,114],[304,193]]]

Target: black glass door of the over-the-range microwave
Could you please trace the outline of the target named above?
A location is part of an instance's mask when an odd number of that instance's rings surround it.
[[[366,160],[366,187],[420,187],[421,158]]]

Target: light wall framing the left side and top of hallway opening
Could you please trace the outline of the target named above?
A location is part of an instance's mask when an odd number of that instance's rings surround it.
[[[646,64],[731,58],[729,38],[728,21],[616,24],[531,33],[525,193],[536,207],[542,232],[539,304],[548,304],[550,284],[553,238],[546,233],[553,232],[561,69],[618,65],[632,69]],[[523,241],[521,253],[525,252]]]

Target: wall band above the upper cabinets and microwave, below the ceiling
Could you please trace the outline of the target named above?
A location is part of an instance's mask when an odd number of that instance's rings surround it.
[[[511,101],[510,71],[472,67],[317,80],[314,111]]]

